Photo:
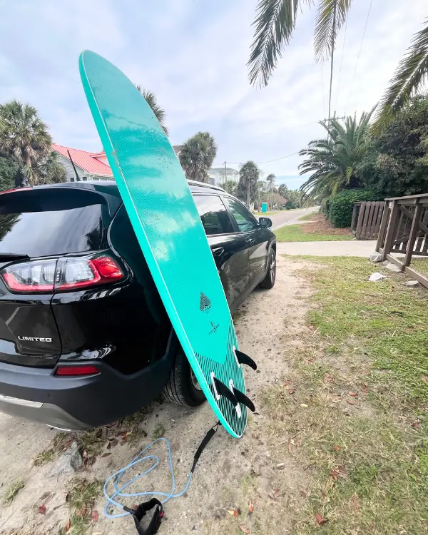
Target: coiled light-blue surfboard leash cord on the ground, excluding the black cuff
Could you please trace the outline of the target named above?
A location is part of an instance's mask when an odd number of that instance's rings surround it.
[[[118,470],[117,472],[115,472],[114,474],[112,474],[110,477],[106,479],[106,482],[104,483],[104,486],[103,486],[103,493],[104,493],[104,496],[106,496],[106,500],[107,500],[106,506],[104,507],[104,514],[106,515],[106,517],[109,519],[117,519],[121,516],[128,516],[129,514],[131,514],[128,511],[123,512],[123,513],[116,513],[116,514],[108,513],[109,506],[118,507],[119,509],[123,510],[124,506],[120,504],[118,501],[116,501],[116,499],[119,499],[119,498],[136,498],[138,496],[163,496],[163,500],[161,500],[161,503],[165,504],[171,498],[179,498],[180,496],[183,496],[183,494],[185,494],[185,491],[187,491],[190,485],[193,471],[195,470],[195,466],[199,460],[200,454],[203,452],[203,449],[205,449],[205,446],[208,444],[208,442],[210,442],[210,439],[214,436],[215,432],[217,432],[217,429],[219,426],[220,426],[220,422],[217,422],[217,424],[215,424],[215,426],[213,426],[208,431],[208,433],[205,435],[205,438],[200,443],[198,449],[196,450],[195,457],[193,458],[193,465],[192,465],[192,468],[190,469],[188,480],[184,486],[184,489],[178,494],[174,494],[175,477],[174,477],[174,471],[173,471],[173,457],[171,454],[169,440],[165,439],[164,437],[161,437],[159,439],[153,440],[151,444],[148,444],[148,446],[146,446],[143,450],[141,450],[141,452],[138,455],[136,455],[136,457],[134,457],[131,460],[131,462],[126,465],[126,467],[121,468],[120,470]],[[156,444],[156,442],[161,442],[161,441],[165,442],[168,448],[168,464],[170,467],[170,474],[171,474],[171,481],[172,481],[171,491],[169,493],[162,492],[162,491],[124,492],[124,490],[128,486],[138,481],[138,479],[145,477],[147,474],[149,474],[152,470],[154,470],[158,466],[160,462],[159,457],[157,457],[156,455],[144,455],[144,454],[147,452],[148,449],[151,449]],[[123,476],[126,474],[126,472],[129,469],[135,467],[136,464],[139,464],[145,461],[151,461],[151,460],[153,460],[153,464],[151,465],[151,467],[148,467],[148,469],[146,469],[142,474],[139,474],[138,476],[131,478],[126,483],[121,482],[121,479],[123,478]],[[107,486],[109,482],[112,480],[113,480],[113,494],[110,495],[108,494]]]

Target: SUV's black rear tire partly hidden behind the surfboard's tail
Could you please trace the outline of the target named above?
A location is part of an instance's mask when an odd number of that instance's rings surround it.
[[[199,407],[206,399],[181,347],[178,347],[175,354],[173,369],[163,387],[163,395],[169,402],[184,407]]]

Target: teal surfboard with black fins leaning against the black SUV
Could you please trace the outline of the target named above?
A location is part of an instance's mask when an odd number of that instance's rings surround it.
[[[253,361],[245,362],[238,349],[178,158],[150,106],[118,68],[91,51],[81,54],[79,67],[108,162],[178,340],[216,416],[233,437],[241,437],[252,405],[243,364]]]

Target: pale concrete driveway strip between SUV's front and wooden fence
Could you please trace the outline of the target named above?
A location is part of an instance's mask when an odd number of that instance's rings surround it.
[[[277,244],[277,252],[282,255],[362,256],[368,258],[369,255],[374,253],[375,248],[375,240],[290,242]]]

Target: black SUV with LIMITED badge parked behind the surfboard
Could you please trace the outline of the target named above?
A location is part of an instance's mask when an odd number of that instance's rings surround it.
[[[275,235],[221,188],[190,183],[233,312],[275,282]],[[113,181],[0,194],[0,411],[61,429],[131,414],[162,389],[197,406]]]

